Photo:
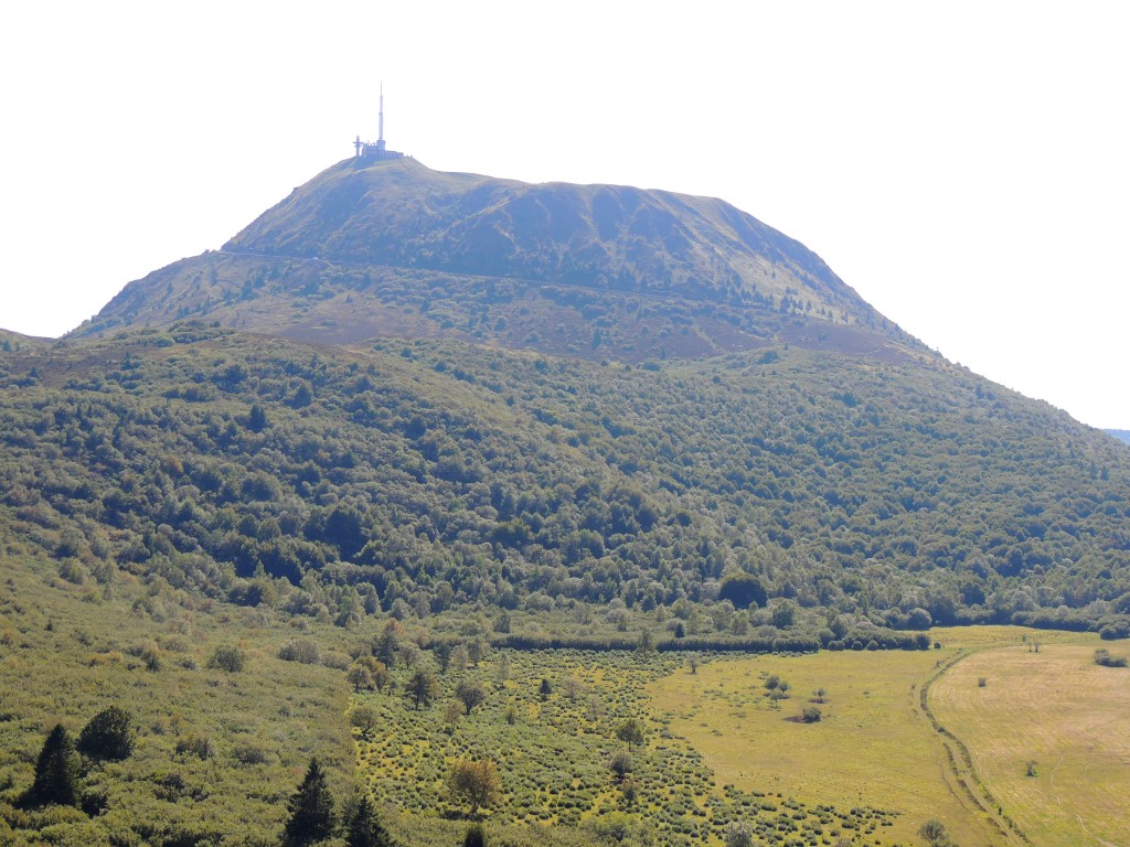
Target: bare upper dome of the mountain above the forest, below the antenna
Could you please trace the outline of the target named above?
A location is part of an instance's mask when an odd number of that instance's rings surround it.
[[[347,159],[76,337],[193,317],[319,343],[457,338],[590,359],[775,343],[924,352],[798,242],[720,200]]]

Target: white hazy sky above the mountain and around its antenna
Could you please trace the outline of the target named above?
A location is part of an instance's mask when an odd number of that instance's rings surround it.
[[[954,361],[1130,428],[1130,3],[7,2],[0,326],[56,337],[376,136],[723,198]]]

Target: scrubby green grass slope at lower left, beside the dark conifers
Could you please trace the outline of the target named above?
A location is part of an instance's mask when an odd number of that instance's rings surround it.
[[[277,660],[293,635],[277,620],[155,587],[125,574],[75,585],[53,565],[0,557],[0,842],[51,829],[61,844],[277,844],[312,756],[336,793],[351,791],[345,675]],[[244,650],[243,671],[206,666],[220,645]],[[104,813],[23,810],[52,726],[77,735],[107,706],[132,715],[138,740],[84,779]]]

